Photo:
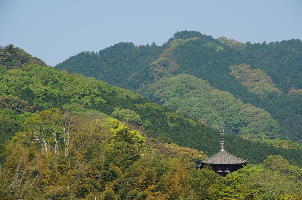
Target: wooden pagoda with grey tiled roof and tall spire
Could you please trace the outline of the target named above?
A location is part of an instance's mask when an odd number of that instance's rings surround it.
[[[220,128],[220,146],[220,152],[201,161],[200,168],[203,168],[204,164],[209,164],[217,174],[225,177],[228,173],[243,168],[249,162],[242,158],[237,158],[224,150],[224,130],[222,124]]]

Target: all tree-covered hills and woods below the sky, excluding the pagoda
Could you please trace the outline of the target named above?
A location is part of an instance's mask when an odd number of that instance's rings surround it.
[[[301,199],[301,48],[183,31],[52,68],[1,47],[1,198]],[[226,177],[198,168],[221,123],[249,160]]]

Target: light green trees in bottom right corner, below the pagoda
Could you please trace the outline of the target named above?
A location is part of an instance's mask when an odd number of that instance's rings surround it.
[[[299,187],[300,183],[280,172],[244,167],[210,189],[215,198],[222,199],[283,199],[286,193],[301,195]]]

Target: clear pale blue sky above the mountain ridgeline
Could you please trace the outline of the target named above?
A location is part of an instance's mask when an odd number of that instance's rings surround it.
[[[119,42],[162,45],[183,30],[239,42],[302,40],[300,0],[1,0],[0,19],[1,46],[50,66]]]

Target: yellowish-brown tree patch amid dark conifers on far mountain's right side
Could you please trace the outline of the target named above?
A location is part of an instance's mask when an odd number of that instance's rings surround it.
[[[251,70],[251,66],[245,63],[232,65],[230,68],[232,70],[231,74],[242,83],[242,86],[247,87],[249,92],[253,92],[262,98],[267,97],[269,93],[280,95],[280,90],[275,87],[271,77],[264,71],[259,69]]]

